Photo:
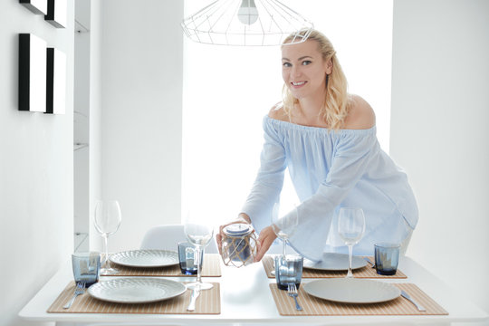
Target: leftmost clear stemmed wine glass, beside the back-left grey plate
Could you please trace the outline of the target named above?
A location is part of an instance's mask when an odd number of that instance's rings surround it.
[[[95,216],[93,219],[95,229],[104,239],[105,264],[101,268],[101,274],[110,275],[119,271],[110,266],[108,238],[119,230],[120,226],[120,206],[117,200],[99,201],[95,206]]]

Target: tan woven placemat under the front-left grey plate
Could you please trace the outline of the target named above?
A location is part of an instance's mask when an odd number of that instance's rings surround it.
[[[219,283],[213,283],[210,290],[200,292],[196,310],[187,312],[192,291],[187,290],[176,298],[151,303],[113,303],[91,297],[88,292],[79,295],[69,309],[62,306],[72,299],[75,283],[69,283],[47,312],[53,313],[162,313],[162,314],[219,314],[221,313],[221,292]]]

